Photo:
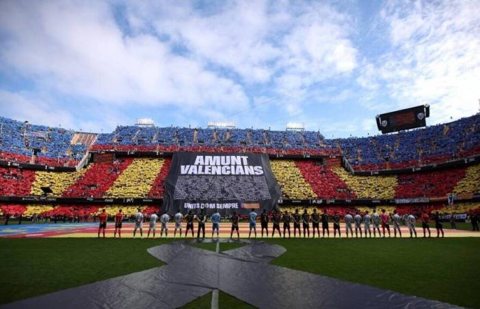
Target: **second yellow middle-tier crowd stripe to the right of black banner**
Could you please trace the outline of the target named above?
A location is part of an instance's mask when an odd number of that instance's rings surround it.
[[[344,168],[333,168],[358,198],[394,198],[396,176],[353,176]]]

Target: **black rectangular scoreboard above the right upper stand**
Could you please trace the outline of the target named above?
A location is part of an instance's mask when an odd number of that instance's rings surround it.
[[[376,116],[376,126],[383,134],[427,126],[430,116],[429,104],[405,108]]]

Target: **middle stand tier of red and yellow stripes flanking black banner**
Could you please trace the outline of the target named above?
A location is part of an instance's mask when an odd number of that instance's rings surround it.
[[[171,159],[124,158],[93,163],[79,172],[0,168],[0,196],[162,198]],[[393,176],[353,176],[317,161],[272,160],[284,199],[446,198],[480,192],[480,165]]]

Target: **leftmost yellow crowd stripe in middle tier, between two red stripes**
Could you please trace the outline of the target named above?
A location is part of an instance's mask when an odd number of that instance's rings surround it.
[[[88,166],[88,168],[90,168]],[[37,171],[35,172],[35,181],[32,184],[32,189],[30,194],[42,195],[43,191],[40,187],[51,187],[53,191],[53,196],[62,196],[62,193],[67,190],[67,188],[75,183],[77,179],[85,174],[88,168],[82,168],[78,172],[47,172],[47,171]]]

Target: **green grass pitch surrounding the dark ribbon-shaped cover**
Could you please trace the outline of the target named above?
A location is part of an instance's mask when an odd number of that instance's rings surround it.
[[[147,249],[171,241],[0,238],[0,304],[161,266]],[[272,261],[278,266],[480,308],[480,238],[267,241],[287,249]],[[216,246],[192,245],[208,250]],[[243,243],[221,242],[219,249],[240,246]],[[211,294],[185,307],[210,308]],[[219,307],[251,308],[222,292]]]

